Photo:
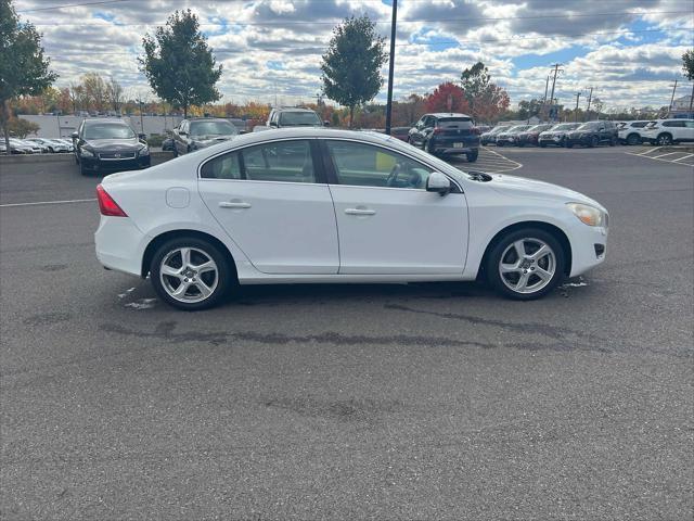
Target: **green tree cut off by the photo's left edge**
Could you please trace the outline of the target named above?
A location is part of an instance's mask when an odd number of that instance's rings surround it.
[[[38,96],[57,75],[43,56],[41,35],[29,23],[20,23],[10,0],[0,0],[0,123],[10,150],[8,123],[10,100],[18,96]]]

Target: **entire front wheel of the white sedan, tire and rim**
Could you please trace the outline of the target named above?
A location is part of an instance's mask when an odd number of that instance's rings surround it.
[[[519,257],[518,243],[523,243],[524,257]],[[540,247],[547,253],[534,260],[531,257]],[[564,250],[553,234],[538,228],[522,228],[503,236],[491,246],[485,271],[489,285],[501,295],[531,301],[556,288],[564,279],[565,266]]]

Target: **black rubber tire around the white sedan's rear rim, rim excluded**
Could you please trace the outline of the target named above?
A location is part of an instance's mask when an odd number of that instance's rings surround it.
[[[159,266],[162,265],[162,260],[170,251],[179,247],[195,247],[197,250],[202,250],[217,264],[219,269],[217,288],[215,288],[215,291],[209,297],[202,302],[185,303],[177,301],[170,296],[162,285],[162,281],[159,280]],[[150,282],[152,282],[157,295],[168,305],[185,312],[197,312],[201,309],[208,309],[219,304],[232,288],[233,276],[229,258],[217,246],[196,237],[180,237],[165,242],[154,252],[152,263],[150,264]]]

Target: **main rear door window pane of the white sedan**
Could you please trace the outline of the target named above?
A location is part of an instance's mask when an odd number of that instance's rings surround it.
[[[308,141],[278,141],[241,151],[246,179],[254,181],[316,182]]]

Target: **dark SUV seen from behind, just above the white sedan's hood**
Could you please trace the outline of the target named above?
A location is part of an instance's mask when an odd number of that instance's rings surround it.
[[[479,154],[479,131],[466,114],[424,114],[410,129],[408,142],[434,155],[465,154],[471,163]]]

